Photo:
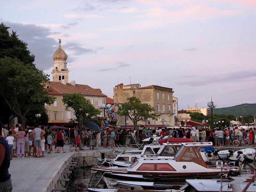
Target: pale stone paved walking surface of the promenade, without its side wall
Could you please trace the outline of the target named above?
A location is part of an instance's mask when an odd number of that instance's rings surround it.
[[[75,149],[72,147],[73,152],[69,151],[69,145],[64,145],[67,153],[45,153],[45,157],[35,158],[12,158],[9,173],[11,174],[13,192],[35,192],[35,191],[51,191],[54,188],[53,180],[58,180],[64,169],[65,163],[74,155]],[[84,147],[85,151],[90,150]],[[104,150],[107,148],[102,148]],[[108,149],[109,150],[109,149]]]

